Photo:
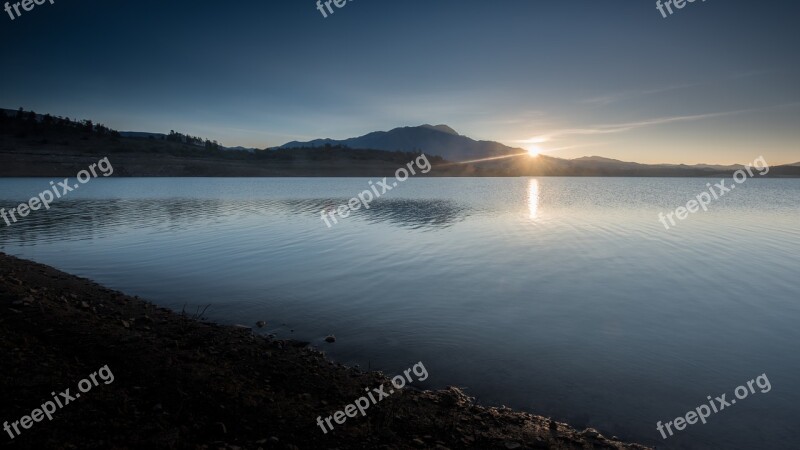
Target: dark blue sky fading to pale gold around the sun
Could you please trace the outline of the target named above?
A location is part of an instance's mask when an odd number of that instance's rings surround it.
[[[428,123],[561,158],[800,162],[795,1],[331,7],[11,4],[0,107],[256,148]]]

